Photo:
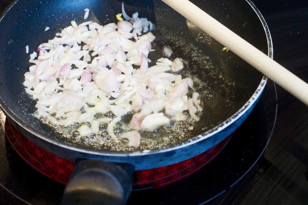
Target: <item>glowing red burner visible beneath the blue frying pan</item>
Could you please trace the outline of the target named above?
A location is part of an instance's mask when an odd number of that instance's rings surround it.
[[[67,183],[74,163],[40,148],[22,136],[8,121],[5,124],[5,132],[12,147],[31,167],[58,183]],[[211,162],[229,142],[231,136],[188,160],[164,167],[135,171],[133,189],[159,188],[184,179]]]

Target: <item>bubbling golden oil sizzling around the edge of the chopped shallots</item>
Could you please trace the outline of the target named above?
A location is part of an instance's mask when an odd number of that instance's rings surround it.
[[[204,52],[200,51],[198,47],[192,43],[187,43],[185,39],[182,39],[178,36],[172,36],[172,32],[169,32],[166,28],[157,28],[154,32],[156,35],[156,40],[152,44],[154,51],[150,52],[149,59],[152,59],[152,63],[149,66],[155,65],[157,59],[165,57],[162,52],[162,47],[168,45],[172,47],[173,55],[169,58],[171,60],[176,57],[181,57],[184,59],[184,69],[178,73],[181,74],[182,78],[191,77],[193,79],[193,89],[189,89],[188,98],[192,97],[193,91],[196,91],[200,95],[201,107],[204,107],[204,102],[213,96],[209,92],[209,85],[203,77],[196,74],[200,69],[203,71],[208,71],[208,74],[213,76],[217,75],[214,69],[214,66],[211,62],[211,59]],[[209,37],[200,36],[196,37],[197,41],[207,41]],[[193,62],[193,66],[190,65],[190,62]],[[214,73],[213,73],[214,72]],[[90,105],[91,106],[91,105]],[[99,124],[99,132],[91,134],[91,136],[80,136],[77,129],[83,125],[88,124],[87,122],[83,123],[74,123],[73,125],[64,127],[60,125],[53,125],[46,118],[40,117],[36,114],[43,123],[51,125],[55,128],[55,131],[58,132],[65,141],[70,141],[73,144],[78,144],[81,146],[104,149],[104,150],[113,150],[113,151],[138,151],[138,150],[148,150],[148,149],[160,149],[168,144],[179,143],[185,141],[195,134],[194,128],[198,124],[196,120],[190,117],[188,111],[183,111],[185,119],[176,121],[172,119],[171,116],[168,116],[164,113],[165,116],[169,117],[170,124],[161,126],[153,131],[143,131],[139,130],[141,140],[140,146],[132,147],[128,146],[128,139],[121,138],[121,134],[124,132],[131,131],[129,123],[132,119],[134,112],[129,112],[126,115],[122,116],[122,120],[116,123],[114,128],[114,135],[117,139],[114,140],[107,132],[107,124]],[[196,115],[202,117],[203,112],[198,111]],[[97,113],[96,117],[110,117],[114,118],[113,113],[107,113],[102,116],[101,113]],[[202,118],[201,118],[202,119]],[[203,130],[203,129],[202,129]]]

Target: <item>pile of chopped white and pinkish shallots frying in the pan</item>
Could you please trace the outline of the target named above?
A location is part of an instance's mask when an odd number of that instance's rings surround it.
[[[87,19],[89,9],[84,11]],[[30,54],[33,65],[24,74],[23,85],[37,100],[38,115],[52,124],[67,127],[80,123],[76,132],[84,137],[95,136],[100,123],[106,123],[106,132],[114,142],[127,138],[129,146],[138,147],[140,134],[136,130],[153,131],[171,119],[183,120],[184,110],[199,120],[197,111],[202,108],[198,93],[188,99],[192,79],[169,73],[184,68],[181,58],[173,62],[160,58],[156,65],[148,66],[155,40],[148,32],[154,28],[152,22],[139,18],[138,12],[129,17],[123,3],[122,14],[117,15],[117,24],[105,26],[71,21],[71,26]],[[172,55],[170,47],[163,50],[168,57]],[[98,117],[109,112],[112,118]],[[129,128],[115,135],[115,126],[127,113],[133,113]]]

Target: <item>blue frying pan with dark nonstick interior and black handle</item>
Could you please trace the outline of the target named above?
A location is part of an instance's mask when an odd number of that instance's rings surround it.
[[[270,32],[264,19],[249,0],[192,1],[246,41],[273,56]],[[24,136],[45,150],[76,162],[62,204],[125,203],[134,170],[174,164],[196,156],[234,132],[250,114],[265,88],[267,78],[232,52],[187,21],[160,0],[125,1],[126,13],[138,11],[152,21],[154,52],[150,59],[162,57],[164,45],[173,48],[174,57],[188,62],[183,75],[198,76],[202,83],[204,113],[193,130],[194,137],[154,150],[117,152],[63,139],[53,128],[32,114],[35,102],[24,91],[23,74],[28,70],[29,53],[55,36],[71,20],[101,24],[115,22],[121,1],[17,0],[0,19],[0,105],[6,116]],[[44,32],[45,27],[50,30]],[[151,66],[151,65],[150,65]]]

